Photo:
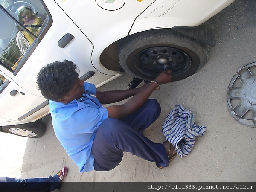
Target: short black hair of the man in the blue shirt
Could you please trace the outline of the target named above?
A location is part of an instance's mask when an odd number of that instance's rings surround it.
[[[78,74],[79,69],[72,61],[55,61],[39,71],[38,89],[46,99],[58,101],[61,97],[68,95]]]

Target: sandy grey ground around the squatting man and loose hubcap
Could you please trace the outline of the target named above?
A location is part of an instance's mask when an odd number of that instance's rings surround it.
[[[26,139],[0,133],[0,176],[48,177],[63,166],[65,182],[256,182],[256,128],[238,123],[227,108],[227,86],[236,71],[256,61],[256,1],[237,0],[210,19],[216,46],[207,64],[195,75],[161,86],[156,98],[162,113],[146,131],[154,142],[165,138],[161,127],[176,104],[190,109],[196,125],[207,127],[192,152],[176,157],[165,169],[125,153],[122,162],[108,172],[80,173],[55,137],[50,116],[44,118],[43,137]],[[100,90],[128,88],[132,76],[125,73]],[[64,182],[64,183],[65,183]],[[64,191],[64,186],[59,190]]]

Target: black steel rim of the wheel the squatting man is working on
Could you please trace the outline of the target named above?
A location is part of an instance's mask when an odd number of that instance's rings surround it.
[[[167,69],[172,70],[172,76],[179,76],[189,70],[191,63],[191,58],[186,52],[173,47],[143,49],[134,57],[136,69],[149,76],[157,76]]]

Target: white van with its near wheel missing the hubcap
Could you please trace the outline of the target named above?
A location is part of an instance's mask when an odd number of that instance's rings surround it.
[[[206,64],[207,20],[234,0],[0,0],[0,128],[41,137],[48,101],[38,71],[71,60],[96,87],[126,71],[131,88],[172,69],[172,81]],[[38,23],[26,23],[29,17]],[[140,80],[142,79],[142,80]]]

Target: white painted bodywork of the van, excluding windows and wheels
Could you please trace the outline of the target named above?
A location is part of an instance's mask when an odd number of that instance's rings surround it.
[[[100,60],[102,52],[114,42],[151,29],[199,26],[234,0],[23,1],[35,8],[41,2],[48,20],[38,37],[39,43],[29,48],[15,70],[0,63],[0,74],[9,83],[0,87],[0,126],[3,127],[35,122],[49,114],[48,101],[36,84],[38,71],[44,65],[71,60],[78,65],[80,77],[94,72],[86,81],[99,87],[122,74],[107,69]],[[17,0],[0,0],[1,5],[12,2]],[[3,9],[0,12],[5,14]],[[74,38],[61,48],[58,41],[66,34]],[[14,96],[10,95],[12,90],[17,90]]]

